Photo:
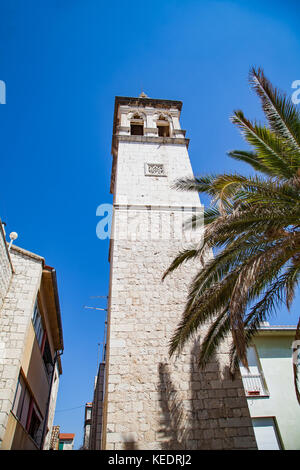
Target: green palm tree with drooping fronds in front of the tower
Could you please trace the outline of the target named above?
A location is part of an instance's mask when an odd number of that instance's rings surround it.
[[[199,366],[205,367],[231,332],[233,375],[240,361],[248,367],[247,347],[260,323],[283,302],[290,308],[300,275],[300,115],[263,70],[252,68],[249,79],[268,125],[250,122],[242,111],[235,111],[231,121],[253,150],[235,150],[229,156],[246,162],[255,172],[183,178],[175,183],[178,190],[207,193],[212,203],[204,212],[203,244],[179,253],[163,276],[187,260],[199,262],[170,341],[170,355],[179,353],[209,321]],[[187,226],[197,222],[195,217]],[[204,264],[210,250],[215,256]],[[300,320],[296,340],[300,340],[299,330]],[[297,366],[293,367],[300,403]]]

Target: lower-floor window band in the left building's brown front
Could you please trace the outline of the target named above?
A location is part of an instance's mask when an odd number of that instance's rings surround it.
[[[21,374],[17,383],[12,412],[37,443],[42,417]]]

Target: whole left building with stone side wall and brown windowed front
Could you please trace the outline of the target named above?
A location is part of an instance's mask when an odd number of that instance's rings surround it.
[[[0,223],[0,449],[50,446],[63,350],[56,273]]]

